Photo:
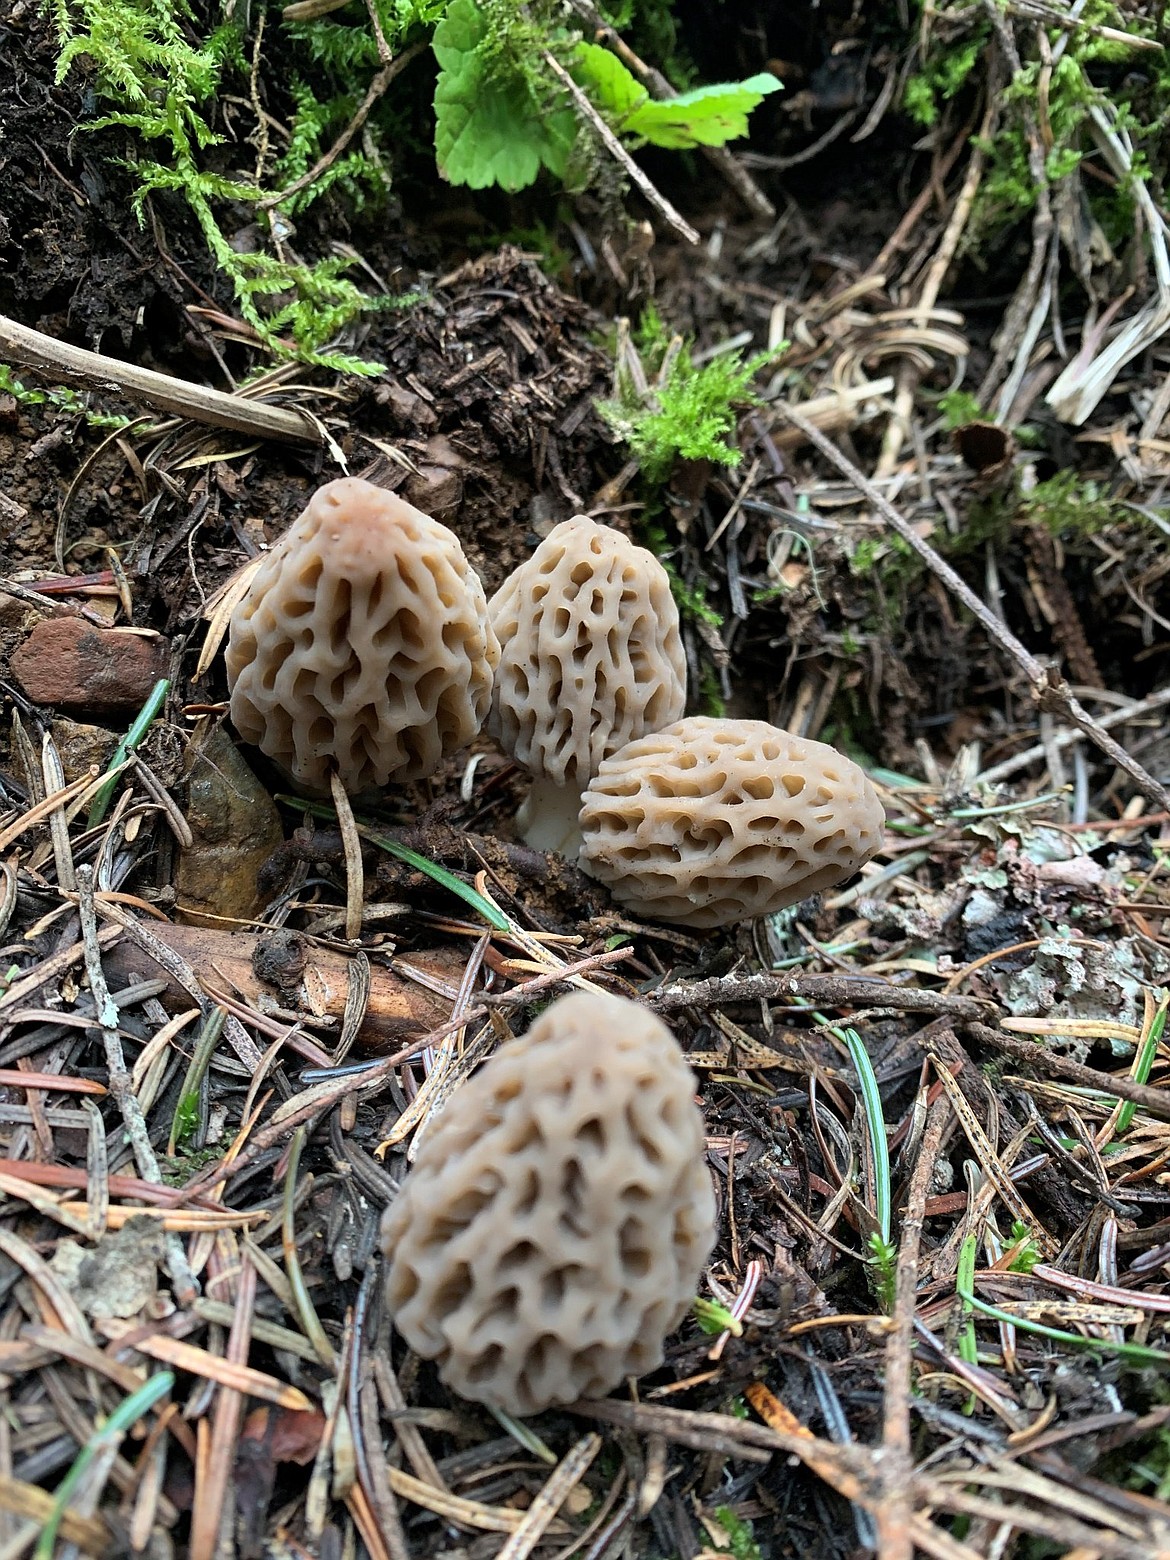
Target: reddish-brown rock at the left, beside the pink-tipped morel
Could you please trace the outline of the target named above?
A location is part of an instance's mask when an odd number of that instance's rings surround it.
[[[84,618],[45,618],[12,655],[12,675],[33,704],[78,714],[131,714],[167,675],[170,649],[145,629],[95,629]]]

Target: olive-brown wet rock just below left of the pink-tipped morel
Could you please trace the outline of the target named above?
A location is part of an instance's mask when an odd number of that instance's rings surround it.
[[[284,841],[281,814],[222,725],[197,727],[184,768],[195,839],[179,853],[179,916],[197,927],[248,920],[264,903],[259,870]]]

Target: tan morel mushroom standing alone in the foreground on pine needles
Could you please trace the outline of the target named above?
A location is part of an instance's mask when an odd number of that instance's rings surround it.
[[[555,1002],[456,1092],[385,1212],[398,1331],[509,1413],[654,1370],[714,1243],[704,1142],[660,1019]]]

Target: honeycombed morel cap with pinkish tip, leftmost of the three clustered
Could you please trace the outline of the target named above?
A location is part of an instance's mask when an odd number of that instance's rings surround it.
[[[231,619],[231,718],[300,789],[420,780],[484,724],[499,644],[446,526],[362,477],[326,482]]]

